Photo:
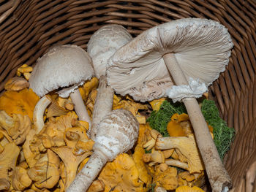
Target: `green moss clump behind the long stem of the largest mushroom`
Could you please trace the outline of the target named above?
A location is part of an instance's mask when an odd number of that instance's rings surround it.
[[[234,128],[229,128],[225,120],[222,120],[222,118],[219,117],[219,110],[217,109],[214,101],[204,99],[201,110],[206,122],[214,128],[214,143],[217,147],[220,158],[223,160],[231,142],[233,142],[235,130]],[[175,113],[187,113],[184,104],[178,102],[173,104],[170,101],[164,101],[159,111],[151,112],[147,122],[151,128],[159,131],[163,137],[168,137],[167,123]]]

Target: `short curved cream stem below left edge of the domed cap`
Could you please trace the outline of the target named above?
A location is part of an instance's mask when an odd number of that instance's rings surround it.
[[[44,112],[45,112],[46,107],[48,107],[48,105],[50,104],[50,102],[51,102],[51,99],[49,96],[43,96],[37,102],[37,105],[34,107],[33,122],[34,122],[34,128],[36,129],[37,134],[45,126]]]

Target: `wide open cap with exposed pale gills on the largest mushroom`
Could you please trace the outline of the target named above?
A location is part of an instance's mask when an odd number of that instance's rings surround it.
[[[162,56],[173,53],[187,80],[192,77],[208,86],[225,70],[232,47],[227,28],[217,21],[173,20],[144,31],[117,50],[108,62],[108,83],[116,93],[129,94],[135,100],[166,96],[165,89],[170,86],[165,83],[173,85],[173,81]],[[151,94],[145,95],[148,85]]]

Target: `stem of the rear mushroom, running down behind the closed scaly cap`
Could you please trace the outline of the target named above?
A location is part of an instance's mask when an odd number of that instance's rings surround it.
[[[89,129],[89,136],[95,139],[97,126],[102,118],[112,111],[114,91],[108,86],[107,77],[99,77],[99,87],[97,98],[94,104],[94,112],[92,115],[92,125]]]

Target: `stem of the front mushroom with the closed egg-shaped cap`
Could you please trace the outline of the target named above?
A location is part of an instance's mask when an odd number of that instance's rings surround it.
[[[108,158],[105,155],[94,151],[89,161],[83,166],[83,169],[81,169],[75,180],[69,185],[69,188],[67,188],[67,192],[87,191],[107,161]]]

